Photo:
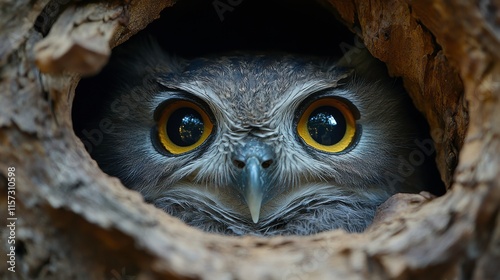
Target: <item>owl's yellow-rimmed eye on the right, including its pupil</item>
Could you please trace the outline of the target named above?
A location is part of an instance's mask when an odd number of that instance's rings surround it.
[[[323,152],[339,153],[353,142],[356,120],[344,102],[326,97],[314,101],[302,113],[297,132],[307,145]]]

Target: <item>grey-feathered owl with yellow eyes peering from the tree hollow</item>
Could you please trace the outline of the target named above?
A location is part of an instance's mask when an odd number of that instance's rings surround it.
[[[101,169],[204,231],[361,232],[390,196],[430,184],[427,155],[412,160],[425,129],[384,67],[363,49],[187,59],[136,40],[82,81],[100,99],[77,133],[105,121],[89,149]]]

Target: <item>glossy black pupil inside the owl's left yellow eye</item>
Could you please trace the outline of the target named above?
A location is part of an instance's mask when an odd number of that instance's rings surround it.
[[[187,147],[195,144],[203,135],[201,115],[192,108],[180,108],[170,115],[167,134],[175,145]]]

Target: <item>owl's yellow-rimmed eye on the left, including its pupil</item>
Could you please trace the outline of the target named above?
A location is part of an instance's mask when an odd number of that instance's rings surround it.
[[[190,152],[205,142],[213,124],[207,113],[195,103],[176,100],[162,111],[158,134],[162,146],[171,154]]]

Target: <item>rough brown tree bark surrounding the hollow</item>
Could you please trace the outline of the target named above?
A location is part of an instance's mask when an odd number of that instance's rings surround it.
[[[363,234],[270,239],[199,232],[100,171],[72,130],[79,77],[173,1],[68,2],[0,4],[0,278],[500,279],[498,2],[322,2],[403,77],[449,191]]]

